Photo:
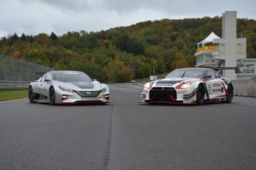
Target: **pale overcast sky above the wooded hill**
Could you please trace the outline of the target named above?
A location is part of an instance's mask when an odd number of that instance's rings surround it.
[[[237,11],[256,20],[255,0],[0,0],[0,37],[96,32],[163,18],[203,18]]]

